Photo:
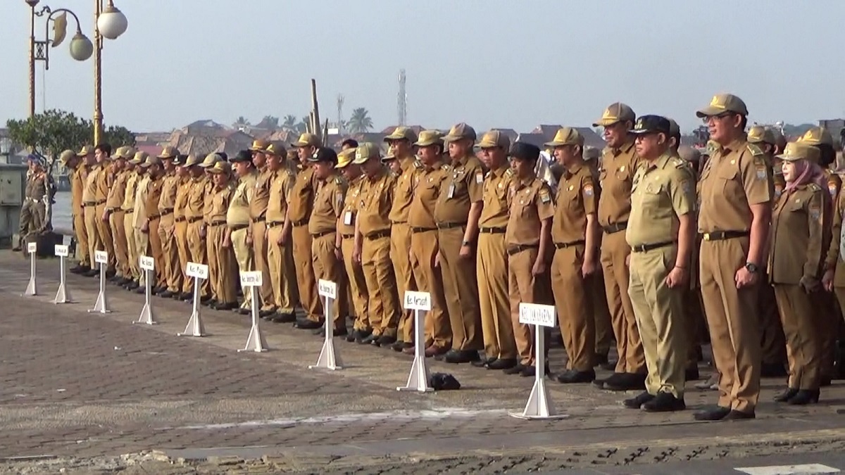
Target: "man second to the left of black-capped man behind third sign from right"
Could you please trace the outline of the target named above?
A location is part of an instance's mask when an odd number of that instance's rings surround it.
[[[291,220],[287,207],[291,199],[293,184],[297,176],[293,166],[286,161],[287,152],[281,144],[267,145],[267,168],[270,170],[270,198],[267,205],[267,265],[273,287],[275,322],[290,323],[297,320],[293,313],[299,304],[297,273],[293,266],[291,243]]]

